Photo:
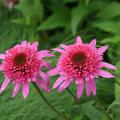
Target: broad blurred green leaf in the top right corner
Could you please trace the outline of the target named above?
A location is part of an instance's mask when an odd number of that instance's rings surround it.
[[[97,15],[102,20],[108,20],[120,16],[120,3],[112,2],[108,3]]]

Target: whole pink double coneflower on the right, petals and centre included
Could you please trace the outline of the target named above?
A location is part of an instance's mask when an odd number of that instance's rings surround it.
[[[49,76],[59,74],[60,77],[53,85],[58,91],[63,91],[70,86],[71,81],[77,85],[77,98],[80,98],[84,84],[86,84],[86,94],[96,95],[95,78],[102,76],[104,78],[114,78],[111,73],[102,70],[103,67],[115,70],[116,67],[103,61],[103,53],[108,46],[96,48],[96,40],[89,44],[82,42],[78,36],[76,43],[72,45],[60,45],[53,50],[61,53],[57,66],[48,72]]]

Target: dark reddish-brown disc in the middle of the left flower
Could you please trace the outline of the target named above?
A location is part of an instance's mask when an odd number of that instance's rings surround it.
[[[24,53],[19,53],[18,55],[16,55],[13,59],[15,65],[17,66],[23,66],[27,59],[26,59],[26,55]]]

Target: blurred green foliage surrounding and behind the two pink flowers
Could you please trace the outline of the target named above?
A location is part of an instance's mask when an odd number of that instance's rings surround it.
[[[117,66],[116,78],[96,80],[97,95],[84,93],[79,105],[66,90],[43,94],[69,120],[120,120],[119,0],[18,0],[11,10],[0,0],[0,53],[22,40],[39,41],[40,49],[51,49],[73,43],[76,35],[84,42],[96,38],[98,47],[109,45],[104,59]],[[51,61],[54,66],[57,57]],[[0,85],[3,79],[0,73]],[[60,120],[32,85],[25,100],[21,92],[11,98],[12,90],[11,84],[0,95],[0,120]],[[70,90],[76,94],[74,84]]]

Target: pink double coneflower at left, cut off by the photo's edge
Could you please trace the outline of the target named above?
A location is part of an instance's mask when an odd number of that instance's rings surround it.
[[[35,82],[40,88],[48,93],[50,92],[48,75],[42,71],[44,67],[49,68],[50,64],[43,58],[54,55],[48,50],[38,51],[37,47],[38,42],[30,44],[23,41],[7,50],[5,54],[0,54],[0,59],[2,59],[0,71],[5,77],[0,93],[5,90],[10,82],[14,84],[13,97],[17,95],[22,86],[22,94],[26,98],[29,93],[30,82]]]

